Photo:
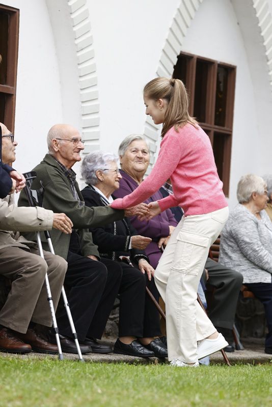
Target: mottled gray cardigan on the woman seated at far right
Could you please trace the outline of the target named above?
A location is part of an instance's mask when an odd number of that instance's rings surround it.
[[[260,215],[239,203],[221,232],[219,261],[239,271],[244,284],[271,283],[272,222],[265,211]]]

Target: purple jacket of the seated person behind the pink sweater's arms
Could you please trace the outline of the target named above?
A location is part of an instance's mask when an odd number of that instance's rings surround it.
[[[120,188],[113,194],[116,198],[123,198],[138,187],[137,182],[135,182],[126,172],[121,170],[120,173],[123,178],[120,180]],[[145,200],[145,202],[149,203],[158,199],[162,199],[162,195],[159,191],[154,193],[149,199]],[[174,215],[170,209],[167,209],[149,221],[141,221],[136,216],[133,216],[130,218],[130,222],[134,228],[138,230],[139,235],[152,239],[152,242],[147,246],[145,252],[149,257],[151,266],[156,268],[162,253],[158,248],[157,242],[160,238],[169,236],[169,225],[177,225]]]

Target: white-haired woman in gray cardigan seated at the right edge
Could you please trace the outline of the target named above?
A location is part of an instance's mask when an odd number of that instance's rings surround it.
[[[272,354],[272,223],[264,210],[265,181],[252,174],[241,177],[237,199],[221,233],[219,259],[239,271],[243,284],[263,303],[268,327],[264,352]]]

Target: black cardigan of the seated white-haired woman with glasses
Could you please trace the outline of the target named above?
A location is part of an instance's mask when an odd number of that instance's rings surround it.
[[[88,207],[106,206],[107,203],[103,197],[91,186],[87,186],[81,191],[85,205]],[[105,226],[90,228],[93,242],[98,246],[101,257],[107,257],[112,260],[119,260],[119,256],[130,256],[131,261],[138,263],[140,258],[149,261],[144,250],[128,250],[131,236],[139,235],[137,230],[130,224],[127,218],[108,223]]]

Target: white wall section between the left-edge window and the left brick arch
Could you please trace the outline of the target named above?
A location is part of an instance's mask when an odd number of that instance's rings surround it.
[[[20,10],[14,166],[29,171],[46,152],[46,134],[62,121],[59,67],[44,0],[2,1]]]

